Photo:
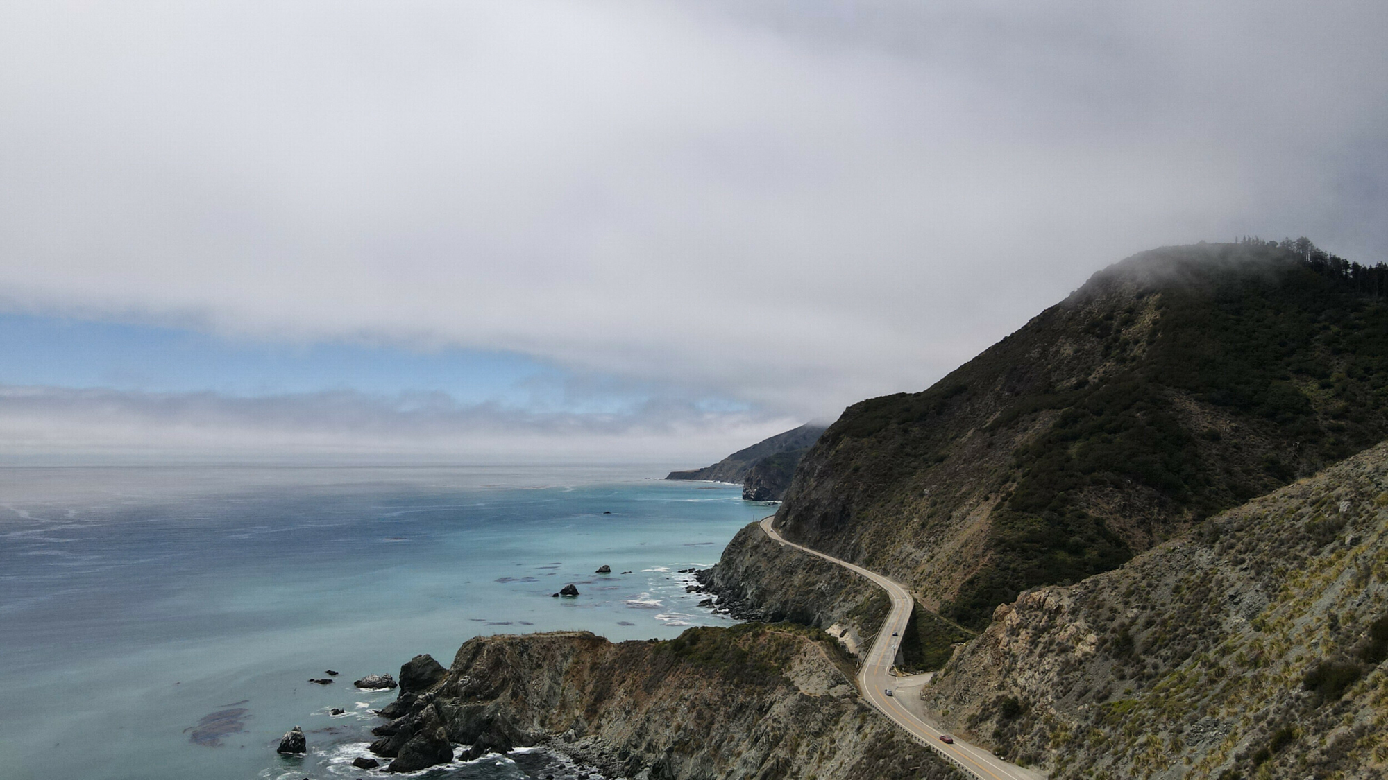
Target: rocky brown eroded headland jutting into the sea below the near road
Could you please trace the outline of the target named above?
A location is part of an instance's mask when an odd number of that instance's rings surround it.
[[[587,631],[479,637],[389,713],[397,733],[544,743],[608,777],[959,777],[862,704],[849,673],[836,641],[790,625],[618,644]]]

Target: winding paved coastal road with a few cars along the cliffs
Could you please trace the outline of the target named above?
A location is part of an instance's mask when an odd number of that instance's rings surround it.
[[[886,691],[892,688],[897,683],[897,679],[891,675],[891,666],[892,661],[897,658],[897,645],[901,643],[901,634],[906,633],[906,622],[911,620],[911,609],[913,605],[911,593],[901,587],[895,580],[869,572],[862,566],[855,566],[854,563],[841,561],[833,555],[824,555],[818,550],[811,550],[795,544],[794,541],[786,541],[781,539],[781,534],[776,533],[776,529],[772,527],[773,518],[775,515],[762,519],[762,530],[766,532],[766,536],[788,547],[804,550],[811,555],[819,555],[826,561],[833,561],[840,566],[851,569],[876,583],[887,591],[887,595],[891,597],[891,612],[887,615],[887,620],[881,625],[881,630],[877,631],[877,638],[873,640],[872,650],[867,651],[867,658],[858,670],[858,687],[862,690],[863,698],[881,711],[883,715],[897,722],[898,726],[905,729],[919,741],[940,751],[954,765],[959,766],[965,772],[969,772],[974,777],[980,777],[981,780],[1042,780],[1045,777],[1045,774],[1035,770],[1008,763],[977,745],[960,741],[958,737],[955,737],[952,745],[941,743],[940,734],[944,731],[930,723],[926,723],[912,712],[908,712],[906,708],[897,701],[897,697],[887,695]]]

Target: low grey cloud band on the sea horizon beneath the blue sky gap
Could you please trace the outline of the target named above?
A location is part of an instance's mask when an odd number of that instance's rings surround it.
[[[444,394],[265,397],[0,386],[7,457],[42,454],[590,461],[704,465],[797,425],[651,401],[620,414],[530,412]],[[718,452],[718,455],[711,455]]]

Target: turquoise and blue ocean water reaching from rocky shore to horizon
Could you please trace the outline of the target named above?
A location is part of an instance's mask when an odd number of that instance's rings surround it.
[[[677,570],[765,512],[623,468],[0,468],[0,774],[366,776],[394,693],[351,680],[479,634],[726,623]],[[310,755],[278,756],[296,724]]]

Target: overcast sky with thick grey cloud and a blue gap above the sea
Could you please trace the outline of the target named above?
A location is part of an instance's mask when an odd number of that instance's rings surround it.
[[[0,6],[0,448],[690,465],[1099,268],[1388,258],[1388,6]]]

